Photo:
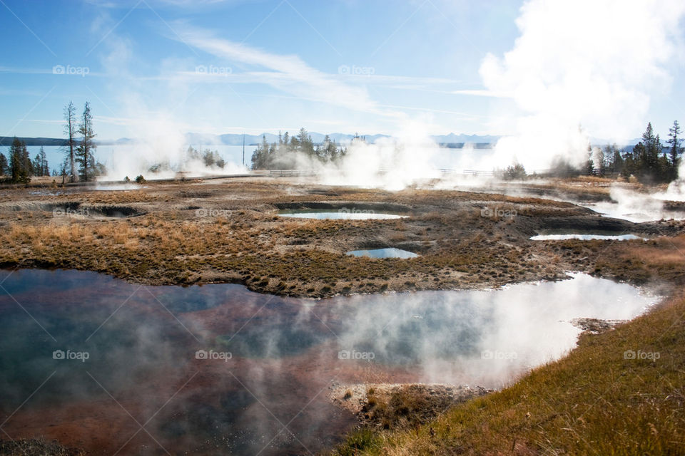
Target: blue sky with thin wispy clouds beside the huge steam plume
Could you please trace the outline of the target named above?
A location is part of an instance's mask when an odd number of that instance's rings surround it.
[[[0,135],[60,137],[91,102],[102,139],[169,131],[515,130],[483,86],[520,1],[0,0]],[[682,59],[644,122],[685,123]],[[497,96],[483,96],[497,95]],[[592,134],[592,132],[590,132]],[[635,132],[639,135],[641,130]]]

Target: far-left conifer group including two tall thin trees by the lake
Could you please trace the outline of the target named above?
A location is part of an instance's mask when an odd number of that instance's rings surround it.
[[[93,141],[93,115],[91,105],[86,101],[81,118],[76,118],[76,107],[70,101],[64,107],[64,133],[67,144],[63,147],[64,162],[59,172],[54,170],[52,175],[61,175],[63,182],[88,182],[97,175],[105,172],[104,166],[96,162],[95,151],[97,145]],[[9,146],[9,160],[0,152],[0,175],[8,176],[9,182],[28,184],[31,177],[50,175],[50,167],[41,146],[40,151],[31,160],[26,142],[14,137]]]

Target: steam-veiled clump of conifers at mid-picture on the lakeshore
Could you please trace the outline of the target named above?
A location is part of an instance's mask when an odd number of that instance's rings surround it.
[[[355,136],[355,139],[360,139]],[[345,156],[345,148],[340,147],[326,135],[321,144],[315,144],[311,135],[300,128],[298,135],[289,136],[288,132],[278,142],[269,144],[265,136],[252,154],[253,170],[293,170],[297,167],[298,155],[322,163],[336,162]]]

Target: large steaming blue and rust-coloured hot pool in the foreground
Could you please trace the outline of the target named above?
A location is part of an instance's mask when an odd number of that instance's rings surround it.
[[[320,452],[355,425],[328,402],[334,384],[498,388],[572,349],[573,318],[656,302],[582,274],[319,301],[86,271],[0,271],[0,284],[3,430],[121,455]]]

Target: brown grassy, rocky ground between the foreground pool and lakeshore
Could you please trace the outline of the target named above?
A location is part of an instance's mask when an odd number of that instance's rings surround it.
[[[517,187],[520,190],[521,185]],[[541,196],[546,188],[529,185]],[[672,249],[673,237],[685,227],[674,221],[634,224],[530,196],[385,192],[278,178],[158,182],[126,189],[0,190],[0,266],[88,269],[145,284],[238,282],[254,291],[310,297],[480,289],[559,279],[570,270],[643,283],[649,279],[649,268],[639,261],[626,263],[631,250]],[[592,199],[608,198],[601,185],[589,189]],[[279,217],[284,209],[392,212],[407,217]],[[529,240],[544,229],[634,233],[654,239]],[[385,247],[419,257],[345,255],[349,250]]]

